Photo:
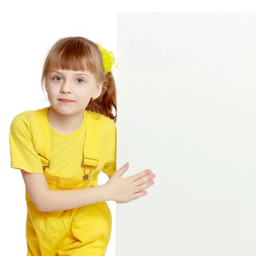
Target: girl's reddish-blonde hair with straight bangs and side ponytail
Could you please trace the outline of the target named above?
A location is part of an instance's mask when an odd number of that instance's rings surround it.
[[[102,53],[99,47],[87,38],[76,36],[59,39],[49,50],[42,70],[41,86],[44,92],[47,73],[55,69],[90,71],[96,83],[102,84],[102,93],[87,105],[88,111],[100,113],[116,123],[116,83],[112,72],[105,75]]]

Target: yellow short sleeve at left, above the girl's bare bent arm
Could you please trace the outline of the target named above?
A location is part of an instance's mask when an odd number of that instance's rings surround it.
[[[11,168],[30,173],[44,173],[42,162],[32,142],[31,116],[19,114],[10,126]]]

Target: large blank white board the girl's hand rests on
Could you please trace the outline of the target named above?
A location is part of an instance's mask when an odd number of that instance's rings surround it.
[[[256,13],[118,13],[116,256],[256,255]]]

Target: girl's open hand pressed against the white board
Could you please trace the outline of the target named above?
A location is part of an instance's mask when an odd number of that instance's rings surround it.
[[[129,163],[126,163],[118,171],[114,172],[112,177],[105,183],[108,200],[116,202],[129,202],[136,198],[147,195],[144,191],[154,184],[154,173],[149,175],[148,169],[138,172],[130,177],[122,178],[122,175],[128,170]]]

